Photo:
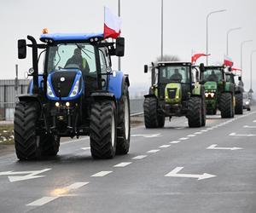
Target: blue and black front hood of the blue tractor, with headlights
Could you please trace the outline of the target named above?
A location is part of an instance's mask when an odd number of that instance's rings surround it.
[[[72,101],[84,91],[82,72],[79,70],[60,70],[50,72],[47,78],[47,97],[52,101]]]

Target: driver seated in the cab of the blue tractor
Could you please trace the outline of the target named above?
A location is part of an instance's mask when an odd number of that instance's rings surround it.
[[[90,72],[90,67],[88,65],[88,62],[85,58],[82,57],[81,49],[77,48],[73,51],[73,56],[67,60],[67,63],[65,67],[69,67],[68,65],[77,65],[79,66],[79,69],[84,73]]]

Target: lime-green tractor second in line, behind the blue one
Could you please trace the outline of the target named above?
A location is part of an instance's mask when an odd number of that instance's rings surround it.
[[[185,116],[189,127],[206,125],[204,86],[194,83],[192,69],[190,62],[152,63],[152,83],[143,103],[146,128],[162,128],[172,116]]]

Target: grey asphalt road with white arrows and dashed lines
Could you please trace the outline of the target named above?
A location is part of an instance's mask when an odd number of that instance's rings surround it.
[[[134,128],[130,153],[109,160],[90,157],[87,137],[56,158],[0,158],[0,212],[256,212],[255,110]]]

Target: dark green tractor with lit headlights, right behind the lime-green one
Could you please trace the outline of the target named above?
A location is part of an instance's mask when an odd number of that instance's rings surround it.
[[[235,84],[226,81],[225,66],[204,66],[201,69],[200,82],[205,85],[206,107],[208,115],[215,115],[217,109],[221,118],[233,118],[236,97]]]

